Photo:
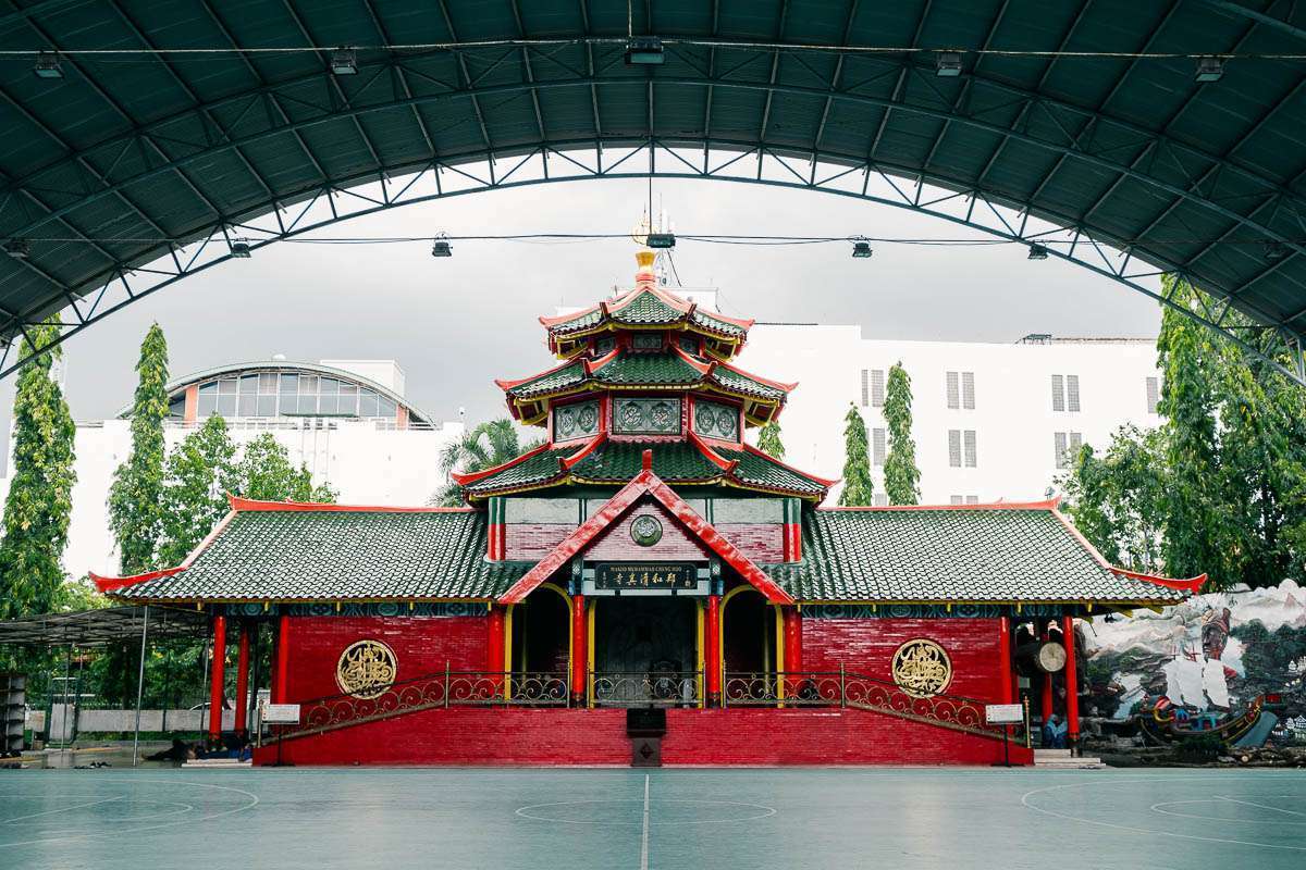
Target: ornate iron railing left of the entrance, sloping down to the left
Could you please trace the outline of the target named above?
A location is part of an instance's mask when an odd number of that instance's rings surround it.
[[[567,707],[568,674],[443,670],[377,686],[370,697],[325,695],[299,703],[299,724],[276,728],[273,740],[319,734],[349,725],[438,707]]]

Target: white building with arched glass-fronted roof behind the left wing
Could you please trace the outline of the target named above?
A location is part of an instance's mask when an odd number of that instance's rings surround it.
[[[330,484],[342,503],[421,506],[444,484],[440,449],[462,436],[461,423],[436,423],[404,398],[404,370],[393,360],[270,360],[195,372],[167,386],[171,450],[213,413],[236,445],[270,432],[313,483]],[[118,553],[106,500],[114,470],[132,450],[124,407],[111,420],[77,424],[73,510],[64,569],[111,573]],[[9,457],[3,489],[13,477]],[[0,492],[3,496],[3,492]]]

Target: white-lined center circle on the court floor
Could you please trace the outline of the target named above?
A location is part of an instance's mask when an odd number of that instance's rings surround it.
[[[656,797],[649,800],[649,827],[663,824],[735,824],[776,815],[776,807],[744,801]],[[516,815],[535,822],[640,827],[644,798],[616,797],[550,801],[518,807]]]

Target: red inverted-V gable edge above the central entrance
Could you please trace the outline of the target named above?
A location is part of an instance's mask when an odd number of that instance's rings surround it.
[[[643,470],[631,483],[626,484],[615,496],[589,519],[580,524],[545,558],[539,560],[511,590],[499,596],[502,604],[517,604],[525,599],[535,587],[547,580],[555,571],[565,565],[573,556],[581,553],[585,547],[607,528],[619,517],[631,510],[643,497],[648,496],[660,502],[680,520],[686,528],[701,540],[708,549],[720,556],[726,565],[733,567],[739,575],[752,584],[772,604],[793,604],[794,600],[785,590],[776,584],[752,560],[739,552],[734,544],[717,532],[712,524],[703,519],[683,498],[662,483],[653,473],[653,451],[645,450],[643,455]]]

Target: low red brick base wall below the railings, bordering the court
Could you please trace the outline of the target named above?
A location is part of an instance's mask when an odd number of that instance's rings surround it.
[[[1023,746],[1015,763],[1028,763]],[[259,764],[277,760],[266,746]],[[862,710],[670,710],[662,763],[991,764],[1002,741]],[[427,710],[287,741],[289,764],[624,766],[623,710]]]

